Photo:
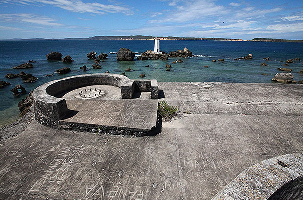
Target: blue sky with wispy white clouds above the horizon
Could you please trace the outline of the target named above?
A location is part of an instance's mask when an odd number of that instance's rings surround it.
[[[0,39],[99,35],[303,40],[303,0],[0,0]]]

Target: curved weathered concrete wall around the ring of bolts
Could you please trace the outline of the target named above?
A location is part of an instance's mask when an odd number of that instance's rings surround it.
[[[33,92],[35,119],[43,125],[58,127],[59,120],[70,111],[62,96],[76,88],[89,85],[113,85],[121,88],[121,98],[131,99],[137,88],[140,91],[151,91],[151,99],[158,99],[157,80],[136,80],[136,84],[123,75],[87,74],[54,80],[37,87]]]

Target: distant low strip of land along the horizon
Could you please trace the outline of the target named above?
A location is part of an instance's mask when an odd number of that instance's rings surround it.
[[[154,40],[159,38],[160,40],[208,40],[208,41],[263,41],[263,42],[303,42],[303,40],[288,40],[288,39],[275,39],[275,38],[254,38],[252,40],[234,39],[234,38],[198,38],[198,37],[174,37],[174,36],[93,36],[90,38],[62,38],[62,39],[45,39],[45,38],[14,38],[7,40]],[[3,41],[3,40],[2,40]]]

